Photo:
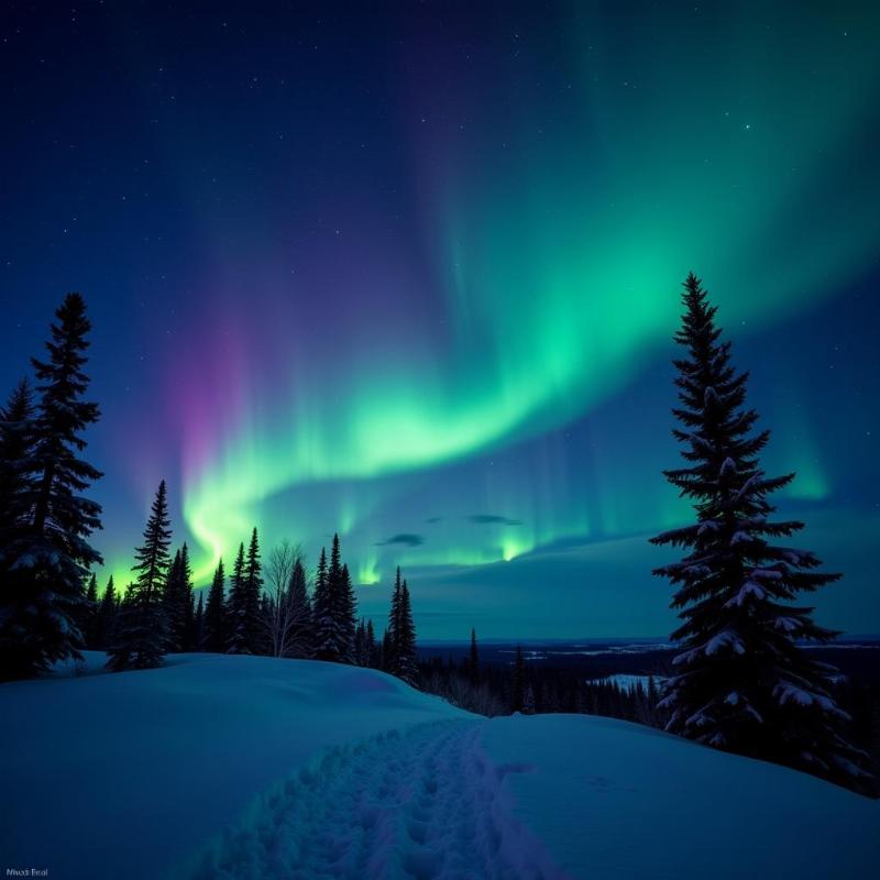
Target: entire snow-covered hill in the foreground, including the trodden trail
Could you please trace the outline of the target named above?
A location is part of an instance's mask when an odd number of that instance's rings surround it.
[[[818,780],[623,722],[490,722],[351,667],[180,654],[3,684],[0,712],[2,861],[56,880],[839,878],[880,857],[880,804]]]

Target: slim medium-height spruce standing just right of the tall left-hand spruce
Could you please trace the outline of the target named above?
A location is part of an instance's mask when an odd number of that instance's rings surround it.
[[[163,592],[168,578],[172,530],[165,481],[158,484],[144,528],[144,542],[134,551],[135,581],[125,593],[107,666],[114,672],[162,666],[168,644]]]

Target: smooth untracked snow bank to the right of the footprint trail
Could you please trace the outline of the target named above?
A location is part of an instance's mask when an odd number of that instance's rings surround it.
[[[515,815],[570,877],[867,877],[880,803],[650,727],[583,715],[493,718],[483,744]]]

